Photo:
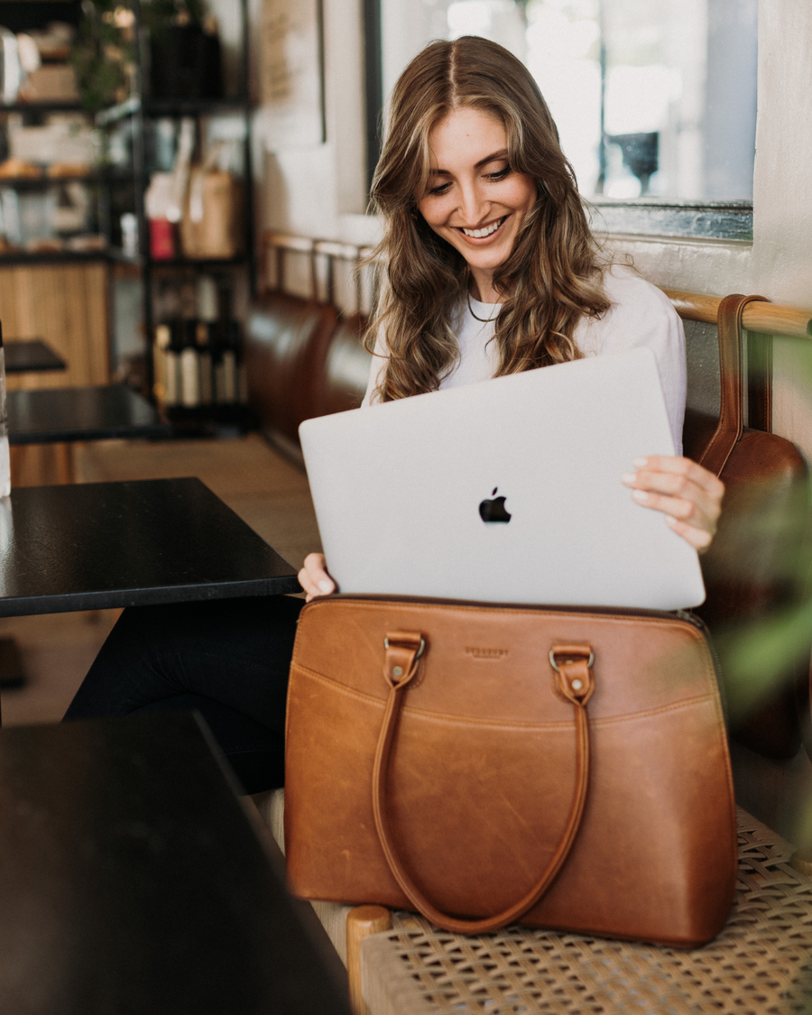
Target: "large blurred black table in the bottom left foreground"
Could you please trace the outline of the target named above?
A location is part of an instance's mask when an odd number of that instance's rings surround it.
[[[0,1011],[349,1015],[189,715],[0,731]]]

